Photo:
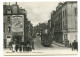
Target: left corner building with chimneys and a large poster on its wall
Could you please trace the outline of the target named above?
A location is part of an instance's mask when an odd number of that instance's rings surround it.
[[[10,42],[28,41],[29,24],[25,9],[20,8],[17,3],[3,5],[4,46],[8,47]]]

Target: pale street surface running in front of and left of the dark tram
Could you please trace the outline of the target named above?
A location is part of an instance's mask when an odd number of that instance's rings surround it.
[[[71,49],[71,48],[66,48],[66,47],[61,47],[56,44],[52,44],[50,47],[45,47],[41,44],[41,38],[38,36],[35,38],[35,50],[55,50],[55,49]]]

